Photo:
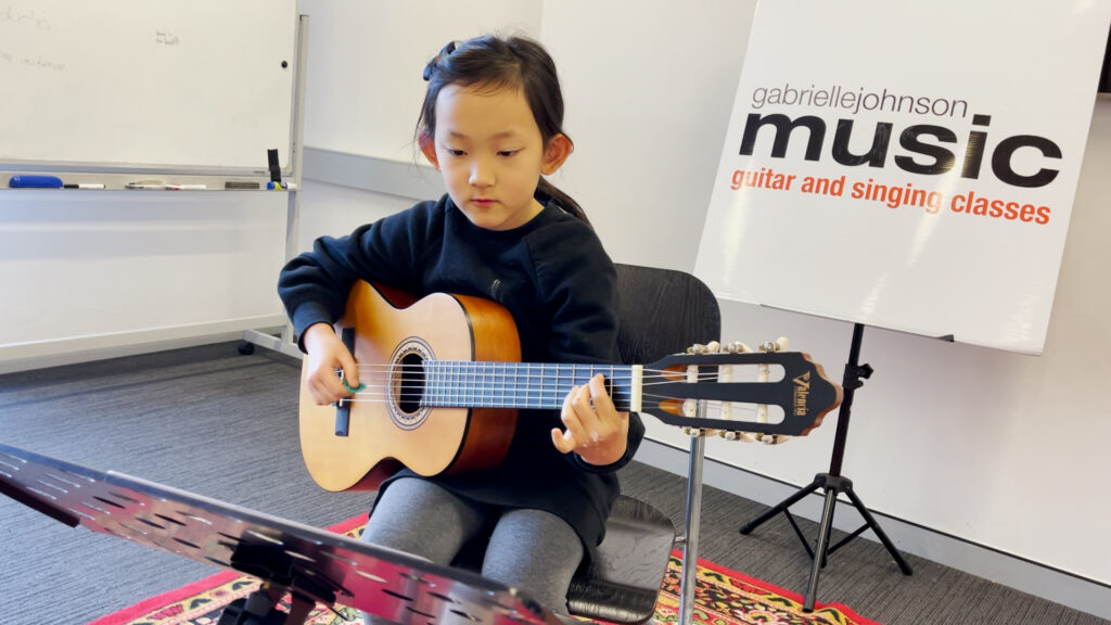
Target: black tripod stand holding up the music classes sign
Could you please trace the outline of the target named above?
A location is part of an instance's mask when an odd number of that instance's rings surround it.
[[[841,459],[844,456],[844,439],[849,435],[849,411],[852,408],[852,396],[855,390],[864,384],[861,378],[869,378],[872,375],[871,366],[859,364],[860,340],[863,337],[863,325],[857,324],[853,326],[852,347],[849,349],[849,363],[844,366],[844,379],[841,384],[842,388],[844,388],[844,398],[841,401],[841,409],[838,413],[837,433],[833,436],[833,457],[830,460],[829,473],[820,473],[815,475],[814,480],[811,482],[809,486],[800,489],[787,499],[783,499],[775,507],[762,514],[759,518],[741,526],[740,529],[741,534],[747,535],[759,527],[763,522],[772,518],[779,513],[787,515],[787,519],[791,522],[791,527],[794,528],[794,533],[799,536],[799,540],[802,542],[802,546],[805,547],[807,553],[810,554],[810,557],[814,560],[810,571],[810,584],[807,586],[807,595],[802,602],[803,612],[812,612],[814,609],[814,596],[818,594],[818,575],[821,573],[822,567],[825,566],[825,557],[844,546],[849,543],[849,540],[860,536],[868,528],[871,528],[872,532],[874,532],[880,538],[880,542],[883,543],[883,546],[888,548],[888,552],[891,553],[891,557],[894,558],[899,568],[902,569],[903,575],[910,575],[912,573],[910,565],[907,564],[907,560],[903,559],[902,555],[900,555],[895,549],[894,544],[891,543],[888,535],[880,529],[880,525],[875,523],[875,518],[872,517],[872,513],[868,512],[868,508],[864,507],[864,503],[860,500],[860,497],[858,497],[857,493],[852,489],[852,480],[841,475]],[[825,507],[822,508],[822,523],[818,530],[818,544],[814,549],[811,549],[810,544],[807,542],[805,536],[802,535],[802,530],[799,529],[799,525],[794,522],[794,517],[791,516],[791,512],[788,508],[819,488],[825,490]],[[849,500],[852,502],[853,506],[855,506],[860,516],[864,518],[864,525],[860,526],[855,532],[830,547],[830,532],[833,528],[833,509],[837,506],[838,493],[844,493],[849,497]]]

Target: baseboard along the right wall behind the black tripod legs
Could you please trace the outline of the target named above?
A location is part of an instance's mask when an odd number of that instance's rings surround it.
[[[637,452],[638,462],[683,477],[687,476],[688,458],[687,449],[678,449],[649,438],[644,439]],[[709,458],[703,464],[702,483],[767,506],[774,506],[807,486],[805,484],[785,484]],[[857,495],[865,505],[868,504],[868,493],[858,493]],[[819,488],[814,494],[800,499],[790,509],[794,516],[820,523],[823,505],[824,492]],[[913,554],[990,579],[997,584],[1093,614],[1100,618],[1111,618],[1111,587],[1109,586],[984,545],[935,532],[901,518],[888,516],[871,508],[869,512],[880,528],[904,554]],[[737,527],[740,528],[741,525],[750,520],[752,519],[739,518]],[[833,516],[834,528],[853,532],[863,523],[864,520],[857,508],[847,498],[839,499]],[[754,532],[759,533],[760,528],[755,528]],[[860,537],[879,542],[871,532],[864,532]],[[817,536],[809,538],[812,545]],[[1099,537],[1093,536],[1092,539],[1098,542]],[[799,548],[801,549],[802,546],[800,545]]]

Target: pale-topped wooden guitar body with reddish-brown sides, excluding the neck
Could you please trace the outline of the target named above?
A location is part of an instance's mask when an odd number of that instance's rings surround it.
[[[301,453],[321,487],[376,489],[400,465],[431,476],[486,470],[504,458],[516,409],[420,406],[409,400],[419,381],[401,373],[424,360],[518,361],[520,340],[503,307],[446,294],[413,301],[359,280],[336,334],[353,347],[359,381],[377,393],[340,407],[318,406],[302,367]]]

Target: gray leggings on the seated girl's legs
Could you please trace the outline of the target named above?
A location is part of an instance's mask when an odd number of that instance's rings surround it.
[[[390,484],[374,506],[362,539],[449,565],[497,515],[482,576],[519,588],[540,605],[567,614],[567,589],[582,562],[582,542],[562,518],[543,510],[509,509],[461,499],[419,478]],[[363,615],[367,623],[389,621]]]

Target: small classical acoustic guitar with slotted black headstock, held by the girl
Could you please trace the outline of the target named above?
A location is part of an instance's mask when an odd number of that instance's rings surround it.
[[[489,470],[509,449],[518,409],[559,409],[572,386],[597,374],[618,410],[679,427],[801,436],[842,397],[821,365],[791,351],[677,354],[650,365],[519,363],[517,329],[501,305],[447,294],[417,300],[362,280],[336,331],[358,364],[359,390],[319,406],[303,368],[301,376],[301,452],[328,490],[374,489],[401,465],[426,476]],[[782,377],[718,381],[722,367],[760,364],[778,365]],[[695,418],[700,401],[779,406],[783,418]]]

